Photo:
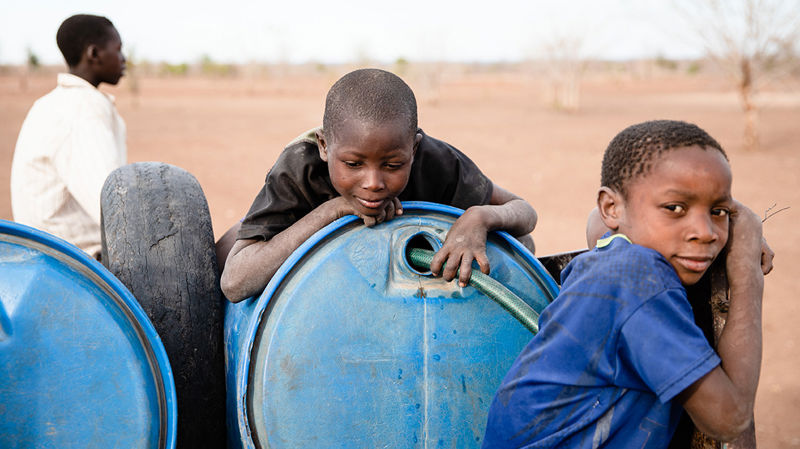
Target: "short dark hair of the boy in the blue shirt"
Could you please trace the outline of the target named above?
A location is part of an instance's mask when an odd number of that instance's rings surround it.
[[[600,184],[626,195],[628,183],[647,174],[662,153],[697,145],[714,148],[728,159],[722,146],[697,125],[678,120],[652,120],[629,126],[608,144]]]

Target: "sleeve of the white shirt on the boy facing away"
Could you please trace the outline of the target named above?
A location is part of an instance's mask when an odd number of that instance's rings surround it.
[[[56,170],[72,196],[100,224],[100,192],[108,175],[124,164],[114,136],[113,112],[87,104],[74,121],[70,143],[55,157]]]

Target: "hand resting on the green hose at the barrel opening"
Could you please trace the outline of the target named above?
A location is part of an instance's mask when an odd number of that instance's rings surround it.
[[[484,274],[489,274],[489,259],[486,257],[488,228],[480,213],[479,208],[468,209],[450,228],[444,245],[431,261],[431,273],[434,276],[441,272],[442,277],[450,281],[456,276],[456,271],[460,270],[458,284],[466,287],[472,274],[473,260],[478,262]]]

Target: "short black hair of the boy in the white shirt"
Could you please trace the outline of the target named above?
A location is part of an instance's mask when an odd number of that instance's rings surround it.
[[[76,14],[62,22],[56,33],[56,43],[67,65],[78,65],[87,45],[104,44],[111,37],[111,28],[114,24],[110,20],[90,14]]]

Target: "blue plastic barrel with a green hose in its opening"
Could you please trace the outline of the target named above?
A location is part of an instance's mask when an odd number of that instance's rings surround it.
[[[405,203],[367,228],[342,218],[229,304],[231,448],[480,447],[495,390],[532,334],[472,287],[413,268],[461,210]],[[557,285],[517,240],[492,233],[491,276],[536,311]]]

